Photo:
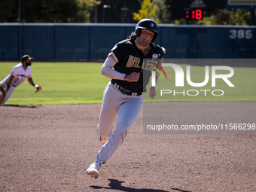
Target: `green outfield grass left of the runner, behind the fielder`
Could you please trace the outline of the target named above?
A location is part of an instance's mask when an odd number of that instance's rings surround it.
[[[1,80],[17,62],[0,62]],[[59,105],[100,103],[109,79],[100,75],[99,62],[32,62],[32,79],[41,92],[24,81],[6,105]]]

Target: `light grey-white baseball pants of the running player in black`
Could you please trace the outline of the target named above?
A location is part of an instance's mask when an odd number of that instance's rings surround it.
[[[99,136],[105,136],[111,131],[112,123],[117,115],[118,122],[108,142],[98,151],[97,162],[104,164],[114,154],[114,151],[123,144],[123,139],[139,116],[142,102],[143,94],[141,96],[128,96],[116,90],[111,82],[108,83],[103,93],[102,108],[97,126]]]

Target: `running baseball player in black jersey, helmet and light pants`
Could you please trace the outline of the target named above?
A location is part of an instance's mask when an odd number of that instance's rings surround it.
[[[153,43],[158,35],[157,29],[157,23],[154,20],[140,20],[135,32],[126,40],[115,44],[105,59],[101,74],[111,78],[111,81],[103,93],[97,126],[102,148],[96,154],[96,160],[86,171],[87,175],[93,178],[99,177],[100,167],[122,145],[130,127],[139,116],[143,92],[146,91],[151,71],[154,70],[148,66],[148,62],[143,62],[143,59],[154,62],[158,60],[157,65],[163,62],[165,49]],[[159,76],[158,73],[157,76]],[[151,86],[149,96],[154,99],[155,95],[155,87]],[[118,122],[113,132],[113,122],[117,116]]]

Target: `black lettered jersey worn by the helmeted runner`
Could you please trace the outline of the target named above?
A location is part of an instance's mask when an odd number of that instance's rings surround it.
[[[151,50],[144,56],[142,50],[136,47],[134,40],[123,40],[115,44],[108,56],[113,56],[117,62],[114,70],[117,72],[129,75],[132,72],[140,73],[139,81],[128,82],[123,80],[113,79],[120,87],[132,92],[145,92],[145,87],[151,77],[151,71],[154,71],[154,63],[160,64],[160,59],[163,58],[164,49],[157,44],[151,43]]]

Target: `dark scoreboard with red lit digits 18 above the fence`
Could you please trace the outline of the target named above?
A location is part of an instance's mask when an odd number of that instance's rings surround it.
[[[225,0],[172,0],[172,20],[202,20],[203,11],[225,8]]]

